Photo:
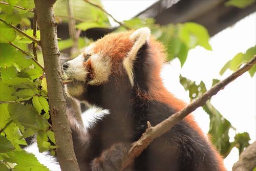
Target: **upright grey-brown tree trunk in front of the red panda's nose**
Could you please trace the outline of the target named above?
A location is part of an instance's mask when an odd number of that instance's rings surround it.
[[[68,120],[65,94],[59,60],[57,25],[53,5],[56,0],[34,0],[40,28],[42,56],[50,105],[52,128],[57,145],[57,157],[61,170],[79,170],[74,153],[71,130]]]

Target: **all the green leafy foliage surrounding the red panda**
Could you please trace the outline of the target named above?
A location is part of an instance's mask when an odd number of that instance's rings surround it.
[[[69,4],[68,4],[68,3]],[[255,1],[230,0],[226,6],[245,8]],[[100,1],[93,1],[101,7]],[[68,8],[69,7],[69,8]],[[13,27],[17,27],[27,35],[40,40],[39,31],[33,34],[33,8],[31,0],[6,0],[0,2],[0,167],[1,170],[48,170],[40,164],[34,155],[23,148],[30,144],[30,137],[36,136],[39,152],[50,151],[55,155],[55,139],[48,122],[49,103],[44,70],[32,58],[32,40],[21,34]],[[211,50],[209,34],[205,27],[197,23],[179,23],[160,26],[153,18],[132,18],[125,20],[121,26],[112,28],[109,15],[102,9],[88,4],[86,1],[58,0],[54,5],[54,13],[59,25],[69,26],[75,35],[58,40],[61,57],[70,59],[79,53],[84,46],[93,40],[88,38],[86,31],[92,28],[112,29],[115,32],[140,27],[149,27],[153,36],[161,41],[167,53],[167,61],[178,58],[181,67],[186,62],[190,49],[201,46]],[[73,20],[73,24],[70,24]],[[76,47],[75,52],[71,49]],[[44,66],[40,46],[36,44],[37,60]],[[255,55],[256,47],[239,53],[227,61],[220,74],[226,70],[236,71],[243,62]],[[65,55],[68,53],[69,55]],[[250,76],[255,73],[255,66],[249,71]],[[212,85],[219,80],[213,79]],[[194,100],[201,96],[206,87],[203,81],[195,81],[180,76],[180,82]],[[227,119],[211,104],[210,100],[203,106],[210,118],[209,136],[220,153],[226,157],[233,147],[239,148],[241,153],[250,140],[248,133],[237,133],[234,141],[230,142],[229,130],[236,130]],[[24,159],[24,160],[22,160]],[[16,164],[16,165],[15,165]]]

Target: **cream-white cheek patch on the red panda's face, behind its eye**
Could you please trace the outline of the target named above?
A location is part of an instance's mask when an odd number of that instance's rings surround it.
[[[91,85],[99,85],[108,81],[111,73],[111,61],[108,57],[101,54],[94,54],[90,57],[93,70],[93,79],[89,82]]]

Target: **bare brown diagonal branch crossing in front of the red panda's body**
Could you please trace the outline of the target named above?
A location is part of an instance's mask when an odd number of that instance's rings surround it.
[[[125,159],[123,168],[133,162],[134,158],[139,156],[143,150],[157,137],[163,135],[167,131],[169,131],[175,124],[180,122],[183,118],[185,118],[188,114],[195,111],[200,106],[204,105],[204,103],[211,97],[216,95],[220,90],[224,89],[225,86],[248,71],[253,65],[256,63],[256,55],[253,59],[247,62],[241,69],[232,73],[226,79],[217,83],[214,87],[210,90],[205,92],[200,98],[196,99],[194,102],[190,103],[186,108],[177,112],[176,114],[170,116],[169,118],[165,119],[161,123],[157,124],[156,126],[148,127],[148,129],[143,133],[141,138],[132,143],[132,147],[130,148],[129,155]]]

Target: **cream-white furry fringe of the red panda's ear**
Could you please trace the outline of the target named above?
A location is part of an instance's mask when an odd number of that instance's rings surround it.
[[[127,53],[127,56],[123,60],[124,69],[127,72],[127,75],[130,79],[130,82],[133,86],[133,63],[136,60],[137,53],[140,48],[150,40],[151,31],[147,27],[140,28],[132,33],[130,40],[133,42],[132,49]]]

